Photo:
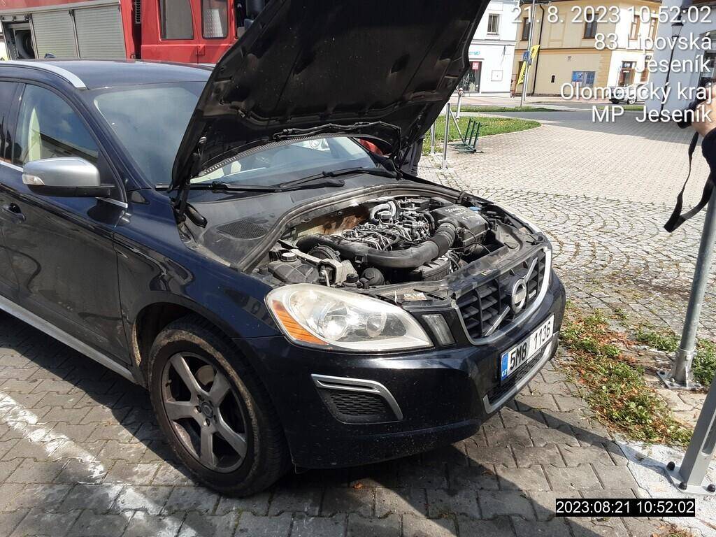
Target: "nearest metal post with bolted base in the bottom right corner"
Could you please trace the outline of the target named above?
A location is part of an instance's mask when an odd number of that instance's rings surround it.
[[[712,198],[713,200],[713,198]],[[667,474],[679,490],[687,494],[715,495],[716,485],[708,483],[706,473],[716,448],[716,377],[711,382],[694,435],[681,466],[667,464]]]

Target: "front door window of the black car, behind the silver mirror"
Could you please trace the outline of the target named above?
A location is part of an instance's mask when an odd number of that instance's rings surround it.
[[[97,163],[99,153],[87,127],[62,97],[39,86],[25,87],[17,118],[16,165],[57,157]]]

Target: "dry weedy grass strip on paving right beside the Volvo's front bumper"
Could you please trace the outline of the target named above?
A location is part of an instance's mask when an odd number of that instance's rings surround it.
[[[600,422],[641,442],[687,444],[691,431],[649,387],[643,369],[624,356],[624,336],[609,328],[604,314],[570,309],[561,341],[574,357],[566,362],[568,373]]]

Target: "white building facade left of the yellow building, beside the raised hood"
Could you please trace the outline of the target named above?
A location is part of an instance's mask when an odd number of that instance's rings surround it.
[[[517,0],[491,0],[470,44],[470,70],[460,84],[468,95],[510,95]]]

